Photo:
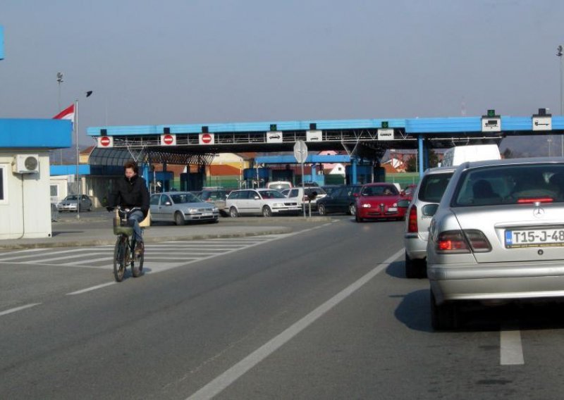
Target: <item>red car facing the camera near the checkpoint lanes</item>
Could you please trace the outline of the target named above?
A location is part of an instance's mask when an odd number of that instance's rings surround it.
[[[400,192],[391,183],[368,183],[362,186],[357,197],[357,223],[363,220],[393,218],[405,219],[405,211],[410,201],[405,192]]]

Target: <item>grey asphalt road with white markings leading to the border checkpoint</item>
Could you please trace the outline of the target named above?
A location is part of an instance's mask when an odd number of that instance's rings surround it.
[[[121,284],[109,247],[3,252],[0,399],[562,398],[560,308],[432,332],[402,223],[294,229],[147,246]]]

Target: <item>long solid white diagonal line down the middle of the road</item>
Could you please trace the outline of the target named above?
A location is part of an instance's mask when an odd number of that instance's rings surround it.
[[[259,347],[259,349],[253,351],[247,357],[243,358],[243,360],[239,361],[233,367],[226,370],[226,372],[222,373],[218,377],[216,377],[212,382],[209,382],[207,385],[202,387],[202,389],[192,394],[192,396],[188,397],[188,400],[204,400],[204,399],[212,399],[212,397],[216,396],[223,392],[223,389],[226,389],[229,385],[231,385],[235,380],[238,380],[241,376],[247,373],[248,370],[253,368],[255,365],[260,363],[264,358],[268,357],[278,348],[286,344],[290,339],[298,335],[298,333],[305,330],[306,327],[314,323],[317,319],[321,318],[327,311],[330,311],[331,308],[336,306],[337,304],[341,303],[341,301],[345,300],[348,296],[356,292],[362,286],[364,286],[367,282],[372,280],[373,277],[381,273],[384,269],[388,267],[393,261],[396,261],[401,255],[403,255],[404,249],[396,252],[393,256],[389,257],[384,263],[376,266],[373,270],[369,273],[361,277],[359,280],[354,282],[349,287],[346,287],[341,292],[333,296],[331,299],[326,301],[321,306],[317,307],[311,313],[305,315],[304,318],[299,320],[297,323],[293,324],[292,326],[288,327],[288,329],[284,330],[281,334],[271,339],[266,344]]]

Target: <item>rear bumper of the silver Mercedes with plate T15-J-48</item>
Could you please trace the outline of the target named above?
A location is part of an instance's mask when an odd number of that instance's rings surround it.
[[[437,302],[564,297],[564,261],[427,265]]]

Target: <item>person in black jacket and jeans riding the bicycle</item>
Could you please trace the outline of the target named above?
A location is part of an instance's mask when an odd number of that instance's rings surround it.
[[[142,253],[145,250],[141,228],[139,223],[147,217],[149,213],[149,191],[145,179],[138,175],[139,168],[133,161],[128,161],[123,165],[125,177],[118,180],[116,187],[108,196],[108,211],[120,206],[123,209],[140,208],[128,215],[128,220],[133,224],[135,241],[137,242],[135,253]]]

